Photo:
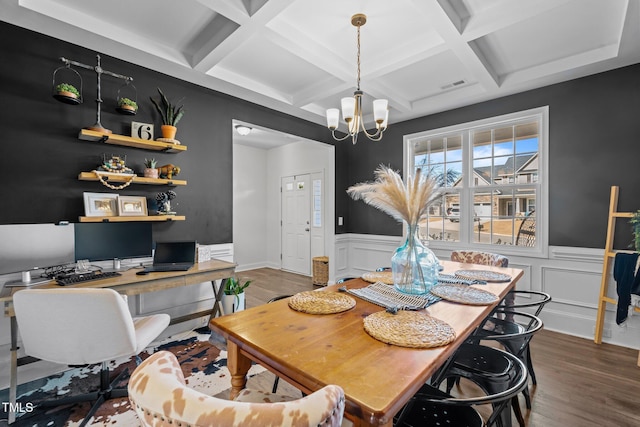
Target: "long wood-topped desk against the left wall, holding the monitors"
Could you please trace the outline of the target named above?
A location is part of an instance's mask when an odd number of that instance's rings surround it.
[[[122,272],[122,276],[111,277],[108,279],[93,280],[89,282],[79,283],[66,287],[74,288],[112,288],[123,295],[140,295],[148,292],[161,291],[165,289],[178,288],[181,286],[195,285],[197,283],[211,282],[215,302],[212,310],[200,311],[179,318],[171,319],[171,323],[180,323],[202,316],[215,317],[218,313],[222,314],[221,295],[224,284],[216,290],[216,280],[226,280],[231,277],[235,271],[235,264],[221,261],[211,260],[196,263],[188,271],[168,271],[149,273],[144,276],[136,275],[137,269],[130,269]],[[51,281],[42,285],[30,286],[29,289],[47,289],[57,288],[59,285]],[[0,293],[0,302],[4,305],[4,315],[10,317],[11,321],[11,372],[9,384],[9,400],[13,405],[16,402],[17,386],[18,386],[18,326],[13,311],[13,294],[26,289],[22,287],[3,288]],[[15,414],[9,412],[9,423],[15,421]]]

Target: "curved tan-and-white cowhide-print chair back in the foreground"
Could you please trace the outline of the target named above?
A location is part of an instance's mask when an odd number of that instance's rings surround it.
[[[218,399],[189,388],[178,360],[168,351],[154,353],[136,368],[129,380],[129,400],[144,427],[337,427],[345,405],[344,391],[336,385],[295,400],[247,389],[236,400]]]

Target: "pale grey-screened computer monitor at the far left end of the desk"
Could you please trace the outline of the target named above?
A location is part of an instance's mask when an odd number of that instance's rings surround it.
[[[74,224],[0,225],[0,274],[72,264]],[[38,275],[33,274],[35,280]]]

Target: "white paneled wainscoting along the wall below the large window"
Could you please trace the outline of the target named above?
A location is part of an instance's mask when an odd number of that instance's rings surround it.
[[[390,265],[391,254],[404,240],[398,236],[341,234],[336,236],[336,279],[358,277],[366,271]],[[593,339],[600,294],[604,250],[552,246],[548,258],[504,253],[509,266],[524,270],[518,289],[541,290],[553,300],[541,317],[545,328]],[[449,259],[450,251],[434,250],[438,258]],[[609,273],[607,294],[616,298],[616,284]],[[615,323],[615,309],[607,304],[603,341],[640,348],[640,315],[630,316],[622,326]]]

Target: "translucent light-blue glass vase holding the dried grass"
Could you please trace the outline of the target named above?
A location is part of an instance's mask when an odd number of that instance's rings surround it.
[[[440,262],[418,237],[418,225],[409,225],[407,241],[391,257],[395,288],[405,294],[421,295],[438,283]]]

